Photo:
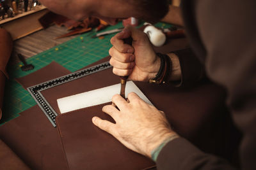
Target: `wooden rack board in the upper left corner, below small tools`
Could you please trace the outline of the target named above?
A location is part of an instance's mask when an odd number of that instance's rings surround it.
[[[22,38],[35,31],[43,29],[38,19],[49,10],[45,6],[38,6],[34,10],[20,13],[12,18],[0,21],[0,27],[10,32],[13,40]]]

